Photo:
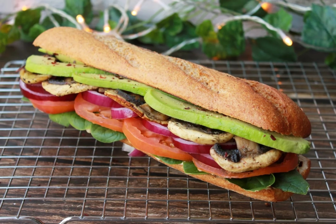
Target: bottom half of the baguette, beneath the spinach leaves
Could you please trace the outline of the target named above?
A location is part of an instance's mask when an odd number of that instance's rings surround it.
[[[159,160],[157,157],[153,156],[150,153],[144,152],[147,155],[151,156],[153,159],[156,159],[164,164],[166,164],[167,166],[170,166],[182,173],[183,172],[183,166],[180,164],[167,164],[161,160]],[[310,160],[302,155],[299,155],[299,161],[302,161],[302,166],[298,166],[296,169],[299,171],[299,173],[303,176],[304,179],[307,178],[309,171],[310,171]],[[248,197],[252,197],[255,199],[259,199],[259,200],[263,200],[263,201],[284,201],[286,199],[288,199],[290,196],[293,195],[293,193],[291,192],[284,192],[281,189],[277,189],[277,188],[272,188],[272,187],[268,187],[267,189],[261,190],[261,191],[256,191],[256,192],[252,192],[252,191],[247,191],[242,189],[241,187],[239,187],[238,185],[235,185],[233,183],[230,183],[229,181],[225,180],[225,178],[222,177],[218,177],[216,175],[212,175],[212,174],[199,174],[199,175],[191,175],[188,174],[196,179],[200,179],[203,180],[205,182],[208,182],[210,184],[216,185],[218,187],[222,187],[225,188],[227,190],[232,190],[235,191],[237,193],[243,194],[245,196]]]

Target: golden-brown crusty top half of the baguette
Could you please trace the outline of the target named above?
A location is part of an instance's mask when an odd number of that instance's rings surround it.
[[[302,138],[311,132],[307,116],[289,97],[256,81],[70,27],[47,30],[33,44],[266,130]]]

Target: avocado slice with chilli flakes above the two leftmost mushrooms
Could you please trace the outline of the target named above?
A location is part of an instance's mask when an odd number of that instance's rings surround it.
[[[87,65],[77,65],[63,62],[55,62],[52,57],[31,55],[26,61],[25,69],[29,72],[44,75],[72,77],[76,73],[110,74]]]

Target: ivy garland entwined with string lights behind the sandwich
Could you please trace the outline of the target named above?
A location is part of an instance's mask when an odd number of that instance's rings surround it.
[[[43,4],[13,13],[0,21],[0,52],[13,41],[31,42],[47,29],[70,26],[126,41],[135,39],[135,43],[165,45],[169,49],[162,53],[166,55],[177,50],[201,48],[210,59],[230,59],[245,52],[247,31],[243,29],[243,21],[249,20],[268,33],[265,37],[248,38],[253,60],[295,62],[297,54],[291,46],[293,40],[308,49],[328,52],[325,62],[336,68],[336,8],[333,6],[303,7],[281,0],[174,0],[166,5],[155,0],[153,2],[162,8],[148,20],[141,21],[136,14],[143,2],[138,1],[129,9],[130,0],[126,0],[125,6],[111,5],[97,15],[93,13],[90,0],[65,0],[62,10]],[[270,4],[278,6],[279,10],[268,13],[265,6]],[[44,18],[41,18],[42,11],[45,11]],[[293,14],[304,21],[300,31],[291,29]],[[83,18],[81,23],[78,18],[76,20],[78,15]],[[164,19],[154,22],[158,15]],[[211,20],[204,20],[209,15]],[[226,15],[225,20],[214,26],[212,21],[222,15]],[[11,17],[14,17],[14,24],[7,24]],[[91,23],[94,17],[98,18],[97,24]],[[193,18],[194,23],[191,22]]]

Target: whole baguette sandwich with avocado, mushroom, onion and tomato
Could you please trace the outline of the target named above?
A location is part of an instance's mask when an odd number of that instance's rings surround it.
[[[20,88],[52,121],[255,199],[307,193],[311,125],[277,89],[69,27],[33,44]]]

